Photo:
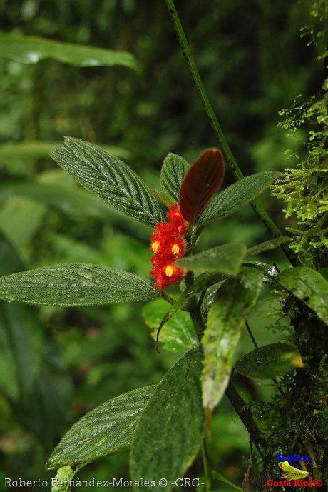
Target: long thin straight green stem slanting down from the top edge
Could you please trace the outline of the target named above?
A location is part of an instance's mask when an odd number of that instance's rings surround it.
[[[232,173],[234,174],[235,178],[237,180],[240,180],[244,178],[244,175],[242,174],[242,170],[237,164],[237,161],[235,159],[235,156],[232,154],[232,151],[230,149],[229,144],[227,143],[227,139],[225,138],[225,134],[223,133],[221,126],[219,122],[217,121],[217,117],[215,115],[214,109],[212,108],[212,104],[210,103],[210,99],[208,99],[207,93],[205,91],[205,87],[203,84],[202,79],[200,78],[200,74],[198,71],[198,68],[195,64],[195,59],[193,57],[193,54],[190,49],[190,45],[188,43],[188,40],[185,36],[185,31],[183,30],[183,26],[181,24],[179,15],[177,10],[175,9],[175,4],[174,0],[165,0],[166,5],[168,6],[168,11],[170,13],[170,18],[172,20],[175,33],[178,37],[178,40],[180,42],[180,46],[183,50],[183,56],[185,57],[185,60],[188,63],[188,67],[190,70],[190,74],[193,77],[194,84],[196,86],[196,89],[198,91],[198,95],[200,96],[200,101],[202,103],[203,108],[206,111],[206,114],[208,116],[208,119],[210,121],[210,124],[212,126],[212,129],[215,133],[215,136],[217,138],[217,141],[220,145],[220,149],[222,150],[224,156],[225,156],[225,161],[227,164],[230,166],[230,169],[232,170]],[[272,236],[281,236],[281,231],[278,228],[277,224],[271,219],[269,214],[265,211],[265,209],[262,208],[262,206],[259,204],[257,200],[252,200],[250,201],[250,205],[252,206],[252,209],[255,211],[255,214],[260,218],[260,220],[265,224],[267,229],[270,231]],[[292,263],[292,259],[290,258],[290,253],[285,248],[284,245],[281,246],[282,249],[284,250],[287,258],[289,261]]]

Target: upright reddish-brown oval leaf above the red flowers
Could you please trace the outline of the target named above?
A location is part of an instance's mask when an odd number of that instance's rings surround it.
[[[181,214],[189,224],[200,216],[220,188],[224,174],[225,161],[219,149],[207,149],[190,167],[179,196]]]

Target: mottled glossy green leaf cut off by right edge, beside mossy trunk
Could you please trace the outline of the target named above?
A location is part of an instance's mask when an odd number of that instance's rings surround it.
[[[328,281],[319,272],[307,266],[297,266],[275,276],[275,281],[328,324]]]

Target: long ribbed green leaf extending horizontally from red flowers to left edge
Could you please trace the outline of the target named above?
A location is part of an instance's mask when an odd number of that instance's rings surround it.
[[[90,263],[63,263],[0,278],[1,299],[46,306],[150,301],[157,296],[146,278]]]

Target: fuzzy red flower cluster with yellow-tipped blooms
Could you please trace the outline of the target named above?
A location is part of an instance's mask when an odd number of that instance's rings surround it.
[[[183,268],[175,266],[175,260],[185,252],[185,231],[188,222],[183,219],[178,205],[168,207],[168,222],[158,222],[151,236],[150,251],[154,253],[150,275],[154,277],[159,291],[175,283],[185,274]]]

